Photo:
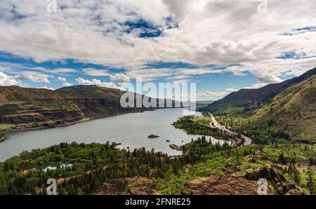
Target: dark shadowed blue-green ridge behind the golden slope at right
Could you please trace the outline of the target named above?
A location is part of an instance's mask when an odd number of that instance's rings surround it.
[[[265,102],[272,100],[275,95],[283,90],[296,85],[316,74],[316,67],[305,72],[301,76],[289,79],[282,83],[272,83],[257,89],[242,89],[237,92],[230,93],[223,99],[209,104],[204,107],[204,111],[218,113],[245,113],[251,109],[257,108]]]

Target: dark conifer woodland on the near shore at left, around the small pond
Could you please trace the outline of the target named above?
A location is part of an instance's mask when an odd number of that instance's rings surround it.
[[[164,179],[178,175],[187,163],[203,161],[203,156],[231,149],[227,143],[212,144],[206,137],[183,146],[183,156],[168,156],[154,149],[117,149],[113,144],[61,143],[47,149],[23,151],[0,164],[0,194],[45,194],[46,181],[55,178],[59,194],[91,194],[118,177]],[[57,161],[56,161],[57,160]],[[39,166],[72,163],[72,167],[44,172]]]

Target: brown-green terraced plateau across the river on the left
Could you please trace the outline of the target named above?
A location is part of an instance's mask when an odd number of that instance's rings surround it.
[[[58,90],[0,86],[0,131],[62,126],[84,119],[152,109],[136,108],[136,105],[135,108],[121,107],[124,93],[124,90],[100,86],[70,86]],[[144,97],[130,94],[135,97],[135,103],[136,97]],[[174,106],[174,101],[171,102]]]

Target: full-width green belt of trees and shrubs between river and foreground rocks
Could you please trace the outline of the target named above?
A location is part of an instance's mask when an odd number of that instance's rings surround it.
[[[231,148],[202,137],[181,148],[185,154],[176,157],[145,148],[117,149],[108,142],[61,143],[23,151],[0,164],[0,194],[45,194],[46,180],[51,177],[59,182],[58,194],[98,194],[110,180],[136,176],[153,180],[157,194],[185,194],[185,182],[197,177],[224,175],[232,165],[239,170],[235,175],[242,175],[269,164],[301,187],[308,189],[312,184],[315,190],[315,145],[287,142]],[[72,166],[44,172],[52,163]]]

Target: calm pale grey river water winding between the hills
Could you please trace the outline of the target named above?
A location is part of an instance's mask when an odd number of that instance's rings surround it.
[[[145,147],[154,148],[171,155],[180,154],[173,150],[169,144],[185,144],[198,135],[187,135],[183,130],[174,128],[171,124],[187,114],[186,109],[158,109],[155,111],[123,114],[105,119],[96,119],[72,126],[53,129],[29,130],[8,135],[8,140],[0,143],[0,161],[20,154],[23,150],[45,148],[60,142],[119,142],[119,147],[130,149]],[[190,112],[190,114],[199,114]],[[157,139],[148,139],[148,135],[159,135]],[[170,142],[166,142],[170,140]],[[181,142],[183,140],[183,142]],[[212,138],[213,142],[216,140]]]

